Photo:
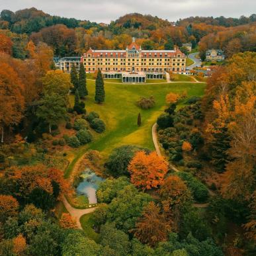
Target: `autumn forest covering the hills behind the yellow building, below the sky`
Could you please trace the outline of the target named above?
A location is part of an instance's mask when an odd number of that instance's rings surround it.
[[[31,8],[16,13],[1,11],[0,34],[11,38],[13,56],[21,59],[27,57],[29,40],[35,44],[45,42],[53,48],[55,56],[72,56],[89,48],[125,49],[132,37],[138,38],[138,44],[145,50],[170,50],[187,42],[194,48],[200,42],[201,57],[213,47],[222,48],[231,56],[255,50],[255,21],[255,15],[251,15],[239,19],[191,17],[169,22],[134,13],[110,24],[97,24],[50,16]]]

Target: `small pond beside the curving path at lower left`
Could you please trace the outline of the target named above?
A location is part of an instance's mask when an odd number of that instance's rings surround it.
[[[85,171],[80,175],[81,183],[77,187],[78,194],[85,194],[89,199],[89,204],[97,204],[96,191],[101,182],[105,179],[96,175],[91,169],[85,169]]]

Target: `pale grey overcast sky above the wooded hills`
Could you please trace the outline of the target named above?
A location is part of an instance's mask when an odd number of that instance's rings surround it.
[[[50,15],[96,22],[108,23],[135,12],[177,21],[191,16],[249,16],[256,13],[256,0],[0,0],[0,11],[30,7]]]

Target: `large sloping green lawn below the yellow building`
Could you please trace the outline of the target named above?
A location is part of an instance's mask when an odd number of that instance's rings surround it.
[[[181,75],[181,77],[183,77]],[[183,78],[187,79],[187,76]],[[190,77],[189,77],[190,79]],[[87,112],[96,111],[106,123],[107,129],[103,134],[93,133],[93,142],[87,146],[73,149],[75,158],[65,171],[65,177],[69,177],[76,161],[88,149],[101,151],[107,158],[112,149],[124,144],[136,144],[138,146],[153,148],[151,127],[165,108],[165,96],[169,92],[181,93],[187,91],[189,97],[202,96],[205,83],[157,83],[154,85],[140,84],[114,84],[105,83],[106,101],[98,105],[94,101],[95,83],[87,81],[89,96],[85,101]],[[136,106],[140,97],[155,98],[155,107],[142,110]],[[73,95],[71,96],[73,101]],[[137,126],[138,113],[142,115],[142,126]]]

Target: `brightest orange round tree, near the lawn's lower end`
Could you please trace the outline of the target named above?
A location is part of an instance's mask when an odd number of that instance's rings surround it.
[[[144,151],[138,151],[130,164],[128,171],[131,181],[142,189],[155,188],[163,183],[165,174],[168,171],[168,163],[164,157],[151,152],[147,155]]]

